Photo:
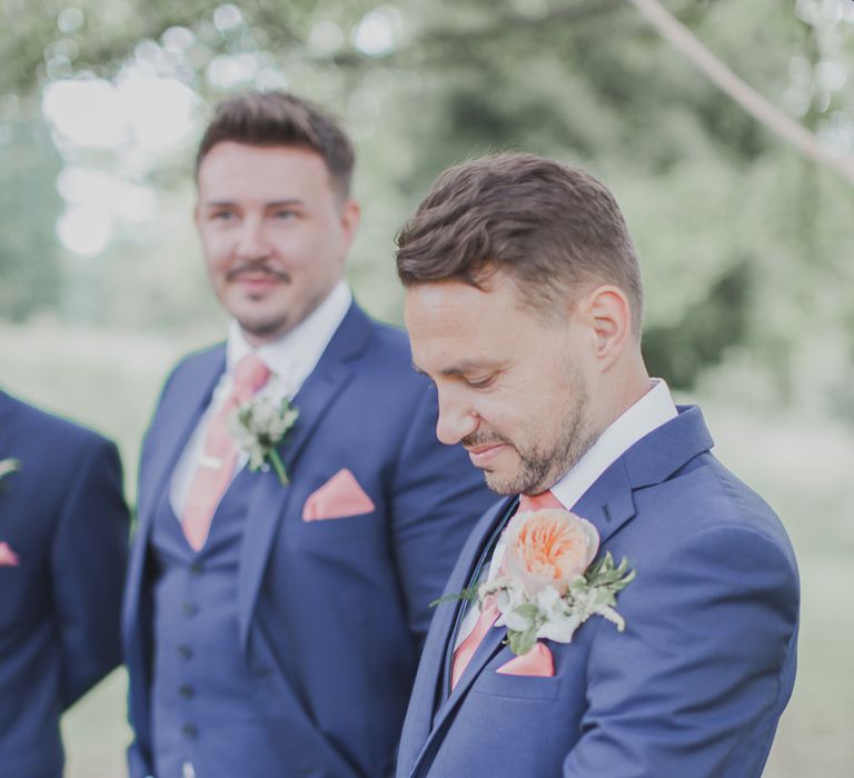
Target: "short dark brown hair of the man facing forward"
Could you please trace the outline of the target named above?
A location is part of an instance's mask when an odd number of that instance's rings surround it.
[[[349,197],[355,163],[352,143],[338,120],[309,100],[287,92],[245,91],[222,100],[196,154],[196,178],[217,143],[286,146],[316,151],[341,197]]]

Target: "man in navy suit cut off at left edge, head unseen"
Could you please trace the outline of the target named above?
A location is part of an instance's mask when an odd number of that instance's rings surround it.
[[[62,775],[59,717],[119,665],[116,447],[0,391],[0,778]]]

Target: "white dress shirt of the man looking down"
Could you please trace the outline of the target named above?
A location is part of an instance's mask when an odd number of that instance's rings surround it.
[[[661,378],[652,379],[649,391],[605,429],[569,472],[552,487],[552,493],[564,508],[572,510],[599,476],[632,446],[671,419],[675,419],[677,415],[667,383]],[[486,580],[493,580],[498,575],[504,551],[505,543],[499,539],[495,545]],[[459,626],[454,650],[475,628],[479,615],[479,607],[473,607],[466,614]]]

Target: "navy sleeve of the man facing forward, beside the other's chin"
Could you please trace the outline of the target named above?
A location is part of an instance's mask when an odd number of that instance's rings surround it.
[[[409,629],[420,641],[471,529],[497,496],[460,446],[436,438],[435,390],[425,385],[395,469],[393,542]]]

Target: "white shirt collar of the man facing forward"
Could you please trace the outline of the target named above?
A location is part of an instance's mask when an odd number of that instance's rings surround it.
[[[352,302],[352,293],[344,280],[332,288],[326,299],[287,335],[255,349],[247,341],[240,325],[232,320],[226,346],[226,371],[247,355],[257,353],[270,371],[287,380],[289,395],[295,395],[314,370]]]

